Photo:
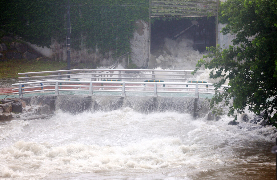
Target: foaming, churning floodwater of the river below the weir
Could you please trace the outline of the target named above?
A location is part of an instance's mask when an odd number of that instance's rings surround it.
[[[124,107],[4,122],[0,179],[275,179],[275,128],[232,120]]]

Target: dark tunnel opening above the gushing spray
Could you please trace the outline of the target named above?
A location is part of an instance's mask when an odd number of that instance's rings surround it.
[[[215,17],[154,18],[151,25],[151,54],[159,51],[164,39],[176,41],[186,38],[193,41],[193,48],[200,53],[216,45]]]

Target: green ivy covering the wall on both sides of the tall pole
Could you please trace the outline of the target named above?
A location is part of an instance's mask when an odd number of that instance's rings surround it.
[[[89,58],[94,56],[89,51],[112,57],[130,52],[135,21],[148,21],[148,3],[149,0],[70,0],[72,51],[85,49]],[[67,0],[2,0],[0,28],[38,46],[52,45],[52,49],[62,51],[66,8]],[[75,58],[80,55],[85,54]],[[63,60],[63,56],[59,54],[55,59]]]

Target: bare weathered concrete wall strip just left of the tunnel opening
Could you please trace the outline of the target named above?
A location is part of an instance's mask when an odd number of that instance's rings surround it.
[[[148,48],[149,48],[149,25],[144,21],[136,21],[136,30],[133,39],[130,40],[131,61],[138,67],[144,67],[148,64]]]

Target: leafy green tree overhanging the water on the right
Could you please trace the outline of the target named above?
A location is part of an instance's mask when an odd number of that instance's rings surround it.
[[[226,80],[231,85],[212,98],[211,107],[225,100],[228,116],[248,107],[277,127],[277,1],[227,0],[220,8],[220,19],[228,23],[222,33],[235,35],[233,46],[207,48],[196,65],[211,69],[211,79],[220,78],[217,88]]]

